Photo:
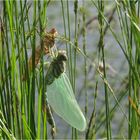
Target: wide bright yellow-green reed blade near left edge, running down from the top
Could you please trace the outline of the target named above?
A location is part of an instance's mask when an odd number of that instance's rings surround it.
[[[11,39],[11,112],[12,112],[12,130],[13,133],[16,135],[16,91],[15,91],[15,75],[16,75],[16,57],[15,57],[15,43],[14,43],[14,33],[13,33],[13,28],[14,28],[14,20],[13,20],[13,2],[6,1],[6,10],[8,14],[8,21],[9,21],[9,27],[10,27],[10,39]]]

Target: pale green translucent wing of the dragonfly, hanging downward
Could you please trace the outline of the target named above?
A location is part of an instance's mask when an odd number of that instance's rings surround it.
[[[65,73],[47,86],[47,99],[53,110],[72,127],[84,131],[85,117],[75,99],[70,81]]]

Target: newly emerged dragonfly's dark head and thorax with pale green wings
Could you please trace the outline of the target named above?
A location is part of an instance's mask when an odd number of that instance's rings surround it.
[[[58,51],[45,76],[47,102],[52,109],[72,127],[79,131],[86,129],[86,119],[76,101],[71,83],[65,72],[67,55]]]

